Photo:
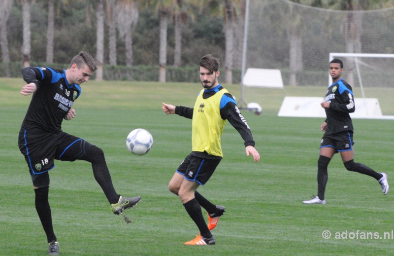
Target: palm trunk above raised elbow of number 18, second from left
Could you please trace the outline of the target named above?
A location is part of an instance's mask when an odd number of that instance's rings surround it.
[[[30,31],[30,5],[32,0],[21,1],[23,14],[22,67],[25,68],[30,66],[30,54],[32,50]]]

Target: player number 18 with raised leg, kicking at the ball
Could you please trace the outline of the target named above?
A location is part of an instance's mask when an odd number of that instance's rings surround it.
[[[96,69],[94,58],[87,52],[80,52],[72,58],[66,70],[48,67],[22,70],[27,84],[21,94],[33,94],[33,97],[19,132],[19,149],[25,156],[32,177],[35,209],[47,236],[49,255],[59,255],[59,243],[53,230],[48,202],[48,171],[55,167],[55,159],[92,163],[93,175],[114,214],[121,214],[141,200],[140,196],[122,197],[116,193],[104,153],[99,147],[62,131],[63,119],[70,120],[75,116],[75,110],[71,107],[81,94],[80,84],[87,82]]]

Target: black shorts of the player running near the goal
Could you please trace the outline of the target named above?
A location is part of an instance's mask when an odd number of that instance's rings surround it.
[[[320,142],[320,148],[333,147],[336,152],[353,150],[353,133],[350,131],[324,135]]]

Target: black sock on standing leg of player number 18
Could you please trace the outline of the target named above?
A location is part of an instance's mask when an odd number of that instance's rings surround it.
[[[57,241],[55,232],[53,231],[51,208],[48,202],[49,187],[37,188],[34,189],[34,192],[35,209],[37,210],[38,217],[41,220],[48,243],[51,241]]]

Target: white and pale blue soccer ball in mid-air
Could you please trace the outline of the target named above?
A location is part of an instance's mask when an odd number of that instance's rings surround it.
[[[151,150],[153,144],[152,135],[145,129],[135,129],[127,136],[126,146],[135,155],[143,155]]]

